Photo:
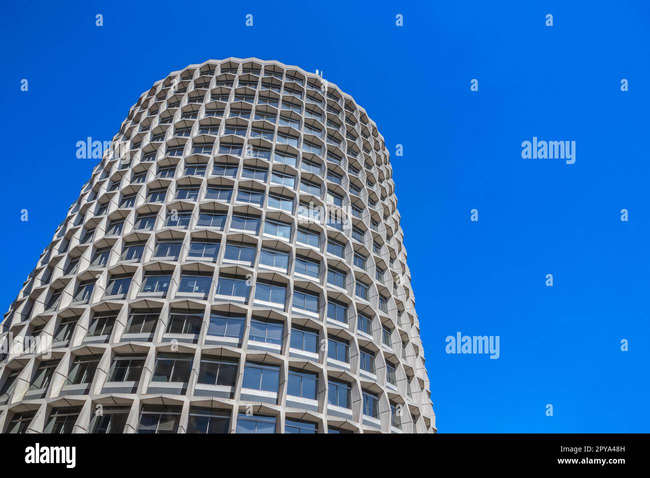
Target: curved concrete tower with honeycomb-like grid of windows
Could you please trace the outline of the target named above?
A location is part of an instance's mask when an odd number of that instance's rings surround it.
[[[158,81],[5,314],[2,432],[435,432],[389,155],[296,66]]]

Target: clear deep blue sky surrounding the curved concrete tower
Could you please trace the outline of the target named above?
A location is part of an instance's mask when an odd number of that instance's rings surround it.
[[[110,140],[187,64],[276,59],[324,70],[404,145],[391,160],[440,432],[650,431],[647,3],[256,3],[3,3],[3,310],[90,176],[77,141]],[[575,164],[522,159],[534,136],[575,140]],[[458,331],[500,336],[500,358],[446,354]]]

